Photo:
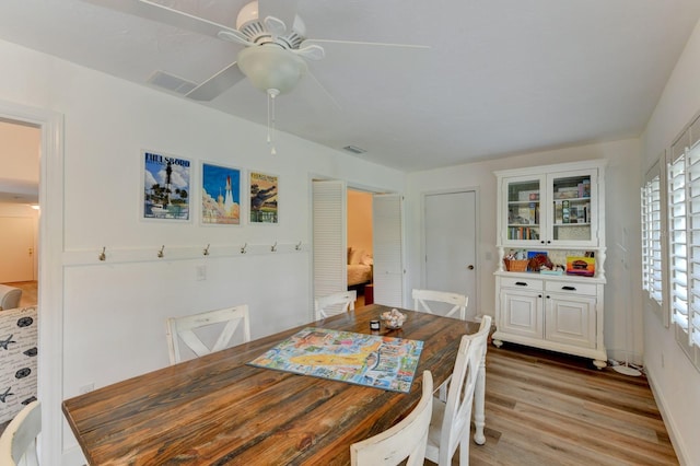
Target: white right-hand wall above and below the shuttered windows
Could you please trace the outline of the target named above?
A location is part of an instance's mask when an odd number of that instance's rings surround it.
[[[642,137],[645,173],[690,119],[700,112],[700,23],[690,36]],[[681,464],[700,464],[700,372],[676,343],[673,325],[666,328],[644,305],[644,365],[664,412]]]

